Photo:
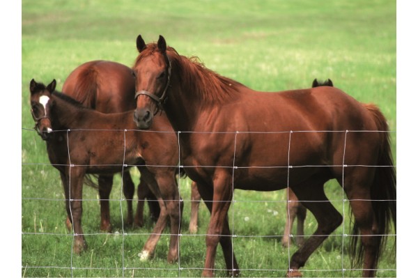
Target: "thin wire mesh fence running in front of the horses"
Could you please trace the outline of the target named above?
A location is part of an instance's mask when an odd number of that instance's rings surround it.
[[[29,129],[29,128],[22,128],[22,131],[24,132],[36,132],[36,130],[33,129]],[[67,143],[68,143],[68,134],[70,132],[83,132],[83,131],[120,131],[120,132],[124,132],[124,138],[125,138],[125,134],[126,132],[139,132],[139,134],[141,132],[156,132],[156,131],[152,131],[152,130],[124,130],[124,129],[119,129],[119,130],[86,130],[86,129],[72,129],[72,130],[54,130],[54,132],[61,132],[61,133],[66,133],[67,134]],[[157,131],[158,133],[176,133],[173,131]],[[177,132],[177,134],[180,133],[199,133],[199,134],[235,134],[234,137],[234,156],[233,156],[233,164],[232,165],[183,165],[181,164],[181,157],[180,157],[180,150],[181,150],[181,145],[180,145],[180,140],[179,140],[179,136],[178,138],[178,153],[179,153],[179,157],[178,157],[178,161],[180,162],[180,164],[176,164],[176,165],[161,165],[161,164],[145,164],[144,165],[134,165],[134,164],[125,164],[125,151],[126,151],[126,141],[125,141],[125,146],[123,146],[124,148],[124,153],[123,153],[123,163],[117,163],[117,164],[72,164],[71,162],[71,157],[70,157],[70,149],[69,149],[69,144],[68,144],[68,159],[69,159],[69,164],[49,164],[49,163],[40,163],[40,162],[31,162],[31,157],[29,157],[27,160],[27,162],[23,162],[22,161],[22,166],[26,166],[26,167],[30,167],[30,166],[45,166],[45,167],[70,167],[70,169],[72,169],[73,167],[120,167],[120,171],[119,173],[123,173],[124,171],[127,171],[127,169],[129,169],[130,167],[175,167],[178,169],[187,169],[187,168],[206,168],[206,169],[211,169],[211,168],[226,168],[226,169],[231,169],[232,170],[232,183],[234,183],[234,174],[235,171],[238,169],[288,169],[288,179],[287,179],[287,187],[289,187],[289,173],[291,169],[301,169],[301,168],[309,168],[309,167],[341,167],[342,169],[346,169],[346,168],[350,168],[350,167],[393,167],[394,169],[396,169],[396,165],[364,165],[364,164],[356,164],[356,165],[352,165],[352,164],[346,164],[343,161],[341,162],[341,164],[333,164],[333,165],[311,165],[311,164],[307,164],[307,165],[291,165],[290,161],[291,161],[291,139],[293,134],[296,133],[302,133],[302,132],[307,132],[307,133],[341,133],[341,134],[345,134],[345,140],[343,142],[344,144],[344,156],[346,155],[346,141],[347,141],[347,134],[350,132],[385,132],[385,133],[392,133],[395,134],[396,131],[376,131],[376,130],[309,130],[309,131],[303,131],[303,130],[296,130],[296,131],[271,131],[271,132],[241,132],[241,131],[235,131],[235,132],[189,132],[189,131],[181,131],[181,132]],[[238,138],[238,134],[289,134],[289,138],[288,138],[288,164],[287,165],[278,165],[278,166],[272,166],[272,165],[251,165],[251,166],[237,166],[235,165],[235,152],[236,152],[236,144],[237,144],[237,138]],[[126,140],[126,139],[125,139]],[[43,154],[42,154],[43,155]],[[22,169],[22,176],[24,176],[24,169]],[[344,173],[344,171],[343,171]],[[69,175],[71,175],[71,170]],[[180,185],[180,177],[178,177],[178,184]],[[71,186],[71,185],[70,185]],[[232,200],[231,201],[206,201],[206,203],[214,203],[214,202],[230,202],[231,206],[229,208],[230,210],[230,216],[231,217],[231,222],[230,222],[230,228],[231,228],[231,235],[217,235],[222,237],[230,237],[231,238],[231,242],[232,245],[239,245],[240,243],[236,242],[236,240],[238,240],[239,238],[244,238],[244,239],[250,239],[250,238],[256,238],[256,239],[277,239],[278,237],[282,236],[282,235],[246,235],[246,234],[240,234],[239,232],[236,232],[235,229],[235,215],[237,213],[237,210],[239,211],[240,208],[237,208],[235,205],[238,205],[239,203],[260,203],[260,204],[268,204],[268,203],[315,203],[315,202],[328,202],[328,203],[341,203],[342,204],[342,216],[343,216],[343,224],[342,224],[342,229],[343,232],[342,233],[332,233],[330,235],[302,235],[302,237],[307,238],[307,237],[323,237],[323,238],[342,238],[342,247],[341,247],[341,257],[343,258],[344,256],[346,256],[346,254],[344,253],[344,245],[348,245],[348,243],[346,243],[344,241],[344,238],[353,238],[353,237],[357,237],[357,238],[361,238],[361,237],[393,237],[396,239],[396,233],[389,233],[389,234],[379,234],[379,235],[356,235],[356,234],[350,234],[347,232],[347,228],[344,226],[345,225],[345,219],[346,219],[346,211],[345,211],[345,206],[344,204],[346,204],[349,201],[393,201],[396,202],[396,200],[380,200],[380,199],[347,199],[347,197],[345,196],[343,189],[344,189],[344,185],[342,186],[342,190],[341,190],[341,199],[330,199],[327,201],[300,201],[300,200],[291,200],[291,199],[286,199],[286,200],[271,200],[271,199],[265,199],[265,200],[240,200],[240,199],[236,199],[235,194],[234,194],[234,190],[233,190],[233,195],[232,195]],[[234,184],[233,184],[233,188],[234,188]],[[24,185],[22,185],[22,192],[24,191]],[[25,192],[26,194],[26,192]],[[73,249],[71,248],[71,251],[69,251],[69,256],[70,256],[70,265],[29,265],[29,263],[26,263],[26,265],[24,265],[24,263],[22,263],[22,276],[25,277],[25,274],[27,272],[27,270],[29,269],[50,269],[50,268],[56,268],[56,269],[62,269],[62,270],[70,270],[71,272],[71,277],[75,277],[77,275],[75,275],[74,271],[75,270],[116,270],[121,272],[120,276],[121,277],[133,277],[134,275],[139,275],[137,272],[134,273],[134,270],[155,270],[155,271],[173,271],[176,270],[178,272],[178,277],[183,277],[183,273],[185,273],[185,270],[199,270],[199,271],[203,271],[205,270],[205,268],[199,268],[199,265],[196,265],[197,267],[185,267],[183,265],[183,262],[181,260],[181,256],[180,256],[180,248],[181,245],[180,243],[178,244],[178,262],[176,264],[176,268],[153,268],[153,267],[132,267],[130,265],[125,265],[125,238],[130,238],[130,237],[137,237],[137,236],[150,236],[150,235],[156,235],[152,232],[150,233],[138,233],[138,232],[134,232],[132,230],[127,230],[125,231],[124,229],[124,223],[123,223],[123,202],[124,201],[148,201],[148,202],[157,202],[157,200],[149,200],[149,199],[127,199],[125,197],[123,197],[123,179],[122,179],[122,184],[121,184],[121,192],[120,192],[120,196],[121,198],[114,198],[114,199],[72,199],[70,196],[70,201],[82,201],[82,202],[98,202],[98,201],[109,201],[109,202],[118,202],[119,203],[119,210],[120,210],[120,217],[121,217],[121,222],[122,222],[122,226],[121,226],[121,232],[116,231],[114,233],[104,233],[104,232],[100,232],[100,233],[84,233],[84,235],[88,238],[90,236],[95,236],[95,235],[121,235],[121,237],[123,238],[122,240],[122,244],[121,244],[121,256],[122,256],[122,263],[123,265],[116,267],[116,268],[96,268],[93,266],[90,266],[88,268],[83,268],[83,267],[75,267],[74,264],[74,256],[75,254],[73,254]],[[48,198],[48,197],[31,197],[31,196],[22,196],[22,202],[29,202],[29,201],[44,201],[46,202],[45,204],[43,204],[42,206],[47,206],[47,203],[49,202],[65,202],[67,199],[64,198]],[[165,201],[178,201],[178,202],[183,202],[183,203],[192,203],[192,200],[187,200],[187,199],[180,199],[180,200],[165,200]],[[179,212],[181,213],[181,211]],[[70,217],[72,217],[72,211],[70,208]],[[199,222],[208,222],[208,219],[200,219]],[[181,222],[181,221],[180,221]],[[22,227],[23,229],[23,227]],[[180,231],[180,226],[178,227],[178,231]],[[59,237],[65,237],[65,238],[73,238],[72,240],[72,244],[74,244],[75,242],[75,236],[76,234],[74,233],[74,231],[70,231],[68,233],[60,233],[60,232],[56,232],[56,233],[47,233],[47,232],[29,232],[29,231],[22,231],[22,236],[31,236],[31,235],[36,235],[36,236],[59,236]],[[159,233],[157,235],[162,235],[162,236],[170,236],[173,235],[171,233]],[[192,238],[192,237],[200,237],[200,238],[206,238],[208,235],[208,233],[179,233],[179,234],[174,234],[174,235],[179,235],[180,238]],[[290,238],[297,238],[300,235],[295,235],[290,233],[289,237]],[[87,239],[88,240],[88,239]],[[318,252],[318,250],[316,250],[316,252]],[[281,265],[278,266],[277,269],[264,269],[264,268],[240,268],[241,273],[243,272],[261,272],[261,276],[263,276],[263,273],[266,272],[287,272],[287,271],[292,271],[291,270],[291,256],[292,256],[291,249],[288,248],[288,265]],[[315,254],[315,252],[314,252]],[[22,255],[23,256],[23,255]],[[270,256],[278,256],[277,254],[270,254]],[[323,254],[321,254],[321,256],[323,256]],[[325,259],[325,258],[324,258]],[[23,260],[23,258],[22,258]],[[217,261],[221,261],[222,258],[218,257]],[[203,260],[201,261],[201,263],[199,263],[201,265],[203,265]],[[240,262],[238,261],[238,265],[240,265]],[[214,268],[213,270],[215,271],[226,271],[226,269],[224,268]],[[350,271],[362,271],[363,269],[361,268],[348,268],[346,267],[346,265],[344,265],[344,261],[343,259],[341,259],[341,268],[338,269],[326,269],[326,270],[320,270],[320,269],[304,269],[301,268],[300,269],[303,273],[304,273],[304,277],[308,277],[307,275],[312,274],[312,273],[316,273],[315,275],[318,276],[322,276],[321,273],[329,273],[329,272],[335,272],[336,275],[341,275],[341,277],[349,277],[350,274],[348,274],[348,272]],[[394,276],[396,276],[396,268],[389,268],[389,269],[382,269],[382,268],[378,268],[377,269],[379,272],[391,272],[391,273],[395,273]],[[140,276],[140,275],[139,275]],[[243,275],[242,275],[243,276]],[[332,276],[332,277],[336,277],[336,276]]]

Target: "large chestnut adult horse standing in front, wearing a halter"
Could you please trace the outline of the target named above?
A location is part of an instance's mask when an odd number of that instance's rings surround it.
[[[396,173],[378,107],[331,86],[254,91],[181,56],[162,36],[148,45],[138,36],[137,49],[137,126],[151,128],[164,109],[178,132],[181,163],[210,210],[203,276],[214,275],[218,243],[229,274],[240,272],[227,217],[234,190],[286,187],[318,222],[289,261],[287,275],[301,276],[343,221],[324,192],[330,179],[343,188],[354,216],[353,263],[363,262],[364,277],[376,274],[385,234],[392,221],[396,227]]]

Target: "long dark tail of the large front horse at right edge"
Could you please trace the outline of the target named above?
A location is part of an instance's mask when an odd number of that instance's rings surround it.
[[[374,265],[374,268],[376,268],[387,243],[387,236],[385,235],[390,231],[391,221],[396,233],[396,171],[392,159],[390,132],[386,118],[375,105],[364,105],[364,107],[373,116],[380,134],[377,169],[371,185],[373,213],[378,224],[376,233],[378,235],[378,249],[376,251],[376,265]],[[353,225],[353,235],[359,235],[359,225],[357,223]],[[360,245],[357,248],[358,239],[359,237],[353,236],[350,242],[352,254],[358,254],[357,260],[352,261],[355,265],[358,265],[364,256],[364,247]],[[396,248],[396,238],[394,246]]]

